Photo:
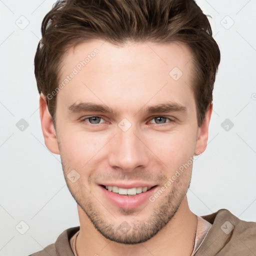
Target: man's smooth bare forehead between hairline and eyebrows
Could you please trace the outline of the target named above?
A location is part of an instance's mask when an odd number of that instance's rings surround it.
[[[62,58],[59,84],[64,86],[57,98],[69,105],[87,100],[129,108],[163,98],[191,104],[191,60],[188,47],[179,42],[81,43]]]

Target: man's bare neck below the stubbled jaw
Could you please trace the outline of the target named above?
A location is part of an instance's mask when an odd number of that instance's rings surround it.
[[[197,216],[193,214],[184,196],[172,219],[149,240],[138,244],[122,244],[102,236],[88,219],[79,205],[80,231],[76,239],[76,252],[79,256],[101,255],[175,255],[190,256],[193,249]]]

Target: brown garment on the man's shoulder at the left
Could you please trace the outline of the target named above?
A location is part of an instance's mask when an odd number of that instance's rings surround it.
[[[69,240],[79,229],[79,226],[67,228],[58,236],[54,243],[29,256],[73,256]]]

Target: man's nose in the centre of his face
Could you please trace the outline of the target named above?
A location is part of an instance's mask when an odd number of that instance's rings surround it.
[[[123,131],[117,127],[117,134],[110,141],[108,163],[114,169],[124,172],[136,167],[146,167],[149,163],[149,150],[141,132],[131,126]]]

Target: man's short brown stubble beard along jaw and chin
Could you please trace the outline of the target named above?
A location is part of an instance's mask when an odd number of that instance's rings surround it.
[[[118,221],[118,219],[116,221],[116,218],[107,210],[107,205],[104,205],[105,207],[101,206],[102,204],[95,199],[95,195],[90,195],[85,187],[83,190],[75,189],[66,179],[66,175],[64,176],[71,195],[88,216],[95,229],[105,238],[123,244],[145,242],[161,230],[177,212],[189,188],[191,179],[190,175],[188,182],[174,182],[166,195],[160,195],[154,202],[148,200],[147,203],[155,203],[155,206],[153,212],[147,218],[142,216],[141,213],[136,213],[137,215],[132,218],[131,222],[126,222]],[[101,209],[97,204],[100,205]],[[146,207],[147,205],[144,208],[145,210]],[[126,216],[134,215],[134,211],[132,209],[119,209],[119,213],[121,212]],[[111,222],[109,218],[114,219],[116,223]],[[139,218],[142,220],[139,220]]]

